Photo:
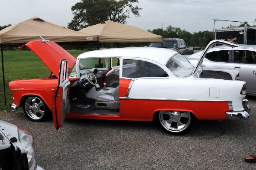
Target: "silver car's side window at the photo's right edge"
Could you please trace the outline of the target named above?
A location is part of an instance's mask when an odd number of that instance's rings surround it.
[[[235,63],[256,64],[256,52],[246,50],[234,50]]]

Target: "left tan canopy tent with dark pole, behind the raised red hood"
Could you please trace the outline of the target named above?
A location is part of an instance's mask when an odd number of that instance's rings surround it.
[[[3,46],[15,46],[28,43],[29,41],[40,39],[39,36],[54,42],[97,41],[96,35],[88,35],[82,32],[74,31],[72,29],[64,28],[62,26],[57,26],[53,23],[42,20],[39,17],[33,17],[29,20],[25,20],[23,22],[2,29],[0,31],[0,47],[2,55],[5,104],[6,94],[3,68]]]

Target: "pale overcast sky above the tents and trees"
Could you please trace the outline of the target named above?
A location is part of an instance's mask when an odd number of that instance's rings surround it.
[[[40,17],[67,28],[73,18],[71,7],[81,0],[1,0],[0,26]],[[213,31],[231,25],[239,26],[256,18],[255,0],[139,0],[141,17],[130,14],[127,24],[140,29],[179,27],[188,32]],[[214,28],[213,28],[214,27]]]

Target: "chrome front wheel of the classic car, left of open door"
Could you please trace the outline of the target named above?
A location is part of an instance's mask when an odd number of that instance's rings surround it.
[[[30,97],[25,102],[26,114],[34,119],[38,120],[44,116],[44,103],[37,97]]]

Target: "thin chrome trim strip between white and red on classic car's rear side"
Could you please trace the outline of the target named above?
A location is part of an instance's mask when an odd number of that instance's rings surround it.
[[[120,97],[122,100],[147,100],[147,101],[223,101],[223,102],[232,102],[224,100],[198,100],[198,99],[169,99],[169,98],[130,98],[130,97]]]

